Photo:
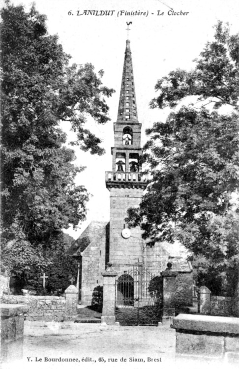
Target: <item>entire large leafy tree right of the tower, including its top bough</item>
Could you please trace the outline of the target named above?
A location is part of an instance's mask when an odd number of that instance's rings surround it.
[[[147,130],[149,185],[140,208],[129,209],[126,219],[141,225],[151,243],[180,240],[194,255],[198,281],[206,278],[212,292],[228,294],[238,278],[239,213],[232,196],[239,184],[239,122],[235,112],[222,115],[205,105],[237,108],[237,40],[219,22],[195,69],[157,82],[152,107],[175,107],[192,96],[201,106],[179,107]],[[212,279],[220,280],[219,288]]]

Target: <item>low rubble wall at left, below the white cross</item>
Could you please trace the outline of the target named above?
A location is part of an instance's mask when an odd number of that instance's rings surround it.
[[[28,306],[26,320],[63,321],[65,298],[58,296],[14,296],[3,295],[3,304],[24,304]]]

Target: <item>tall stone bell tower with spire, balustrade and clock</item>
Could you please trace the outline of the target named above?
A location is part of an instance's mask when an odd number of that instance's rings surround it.
[[[143,240],[139,227],[129,229],[125,223],[127,209],[138,207],[146,188],[141,173],[141,123],[138,121],[130,41],[126,41],[120,102],[114,123],[115,146],[112,148],[112,171],[106,172],[110,191],[109,260],[117,272],[143,262]]]

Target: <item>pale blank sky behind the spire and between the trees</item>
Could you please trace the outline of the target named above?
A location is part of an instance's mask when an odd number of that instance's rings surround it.
[[[11,2],[25,5],[26,10],[32,3],[30,0]],[[72,57],[71,62],[91,62],[96,72],[103,69],[103,84],[116,90],[107,99],[111,121],[98,125],[89,119],[87,123],[89,129],[102,139],[106,154],[97,157],[74,148],[76,165],[86,166],[77,176],[76,183],[84,184],[91,194],[87,220],[77,230],[65,230],[77,239],[90,221],[109,220],[110,193],[105,187],[105,171],[112,167],[113,123],[117,120],[126,22],[132,22],[129,39],[143,146],[147,139],[145,129],[154,122],[165,121],[170,112],[169,109],[149,108],[150,100],[156,96],[154,86],[157,80],[176,68],[193,68],[193,60],[206,42],[213,39],[213,26],[218,20],[228,22],[231,33],[237,33],[239,5],[238,0],[35,0],[34,3],[36,9],[47,16],[48,32],[58,34],[63,50]],[[2,6],[3,1],[0,4]],[[98,10],[102,15],[86,15],[84,10]],[[112,15],[105,15],[106,11]],[[136,11],[145,15],[134,15]],[[180,12],[188,14],[177,15]],[[68,134],[68,141],[74,140],[69,127],[64,125],[62,128]]]

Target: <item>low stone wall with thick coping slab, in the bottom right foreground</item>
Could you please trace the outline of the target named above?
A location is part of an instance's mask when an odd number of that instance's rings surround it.
[[[239,318],[179,314],[172,328],[178,360],[239,362]]]

